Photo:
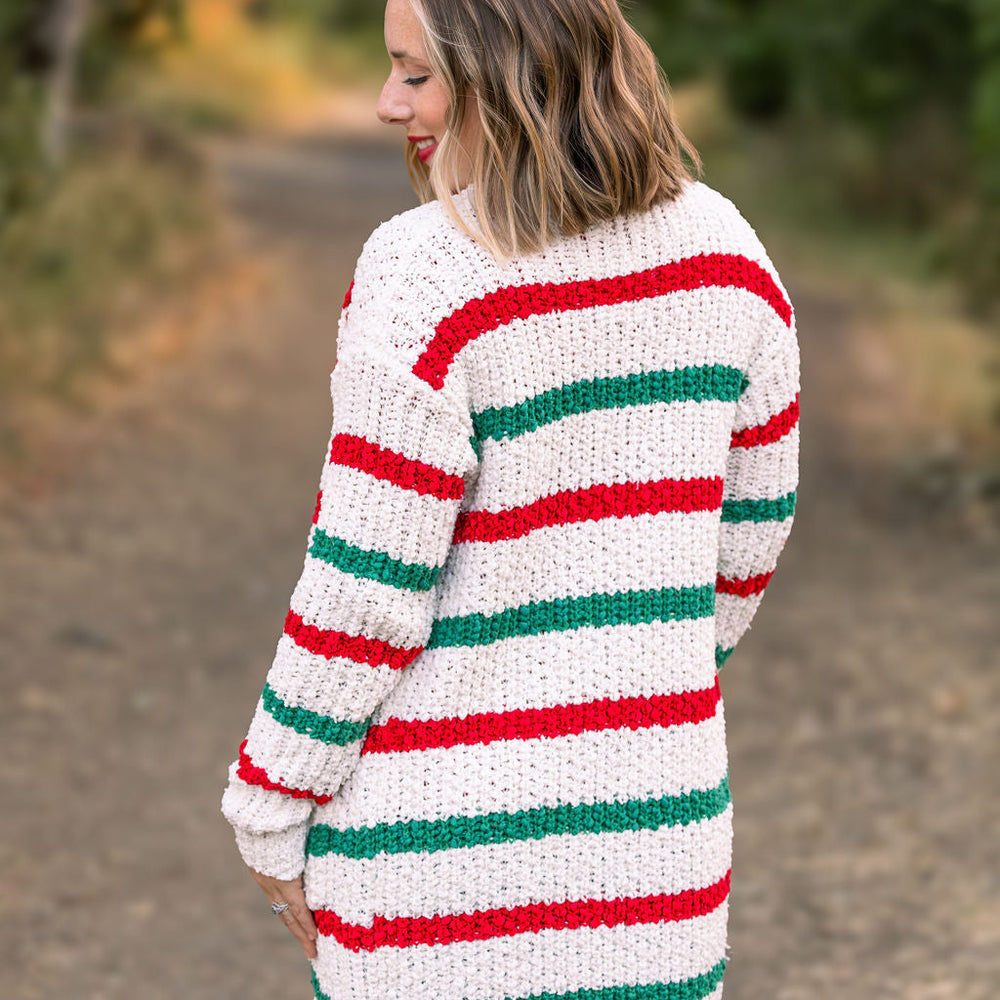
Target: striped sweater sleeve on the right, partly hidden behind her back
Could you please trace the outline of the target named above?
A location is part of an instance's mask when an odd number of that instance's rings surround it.
[[[736,407],[723,486],[716,578],[716,664],[750,627],[792,527],[798,486],[795,314],[758,340]]]

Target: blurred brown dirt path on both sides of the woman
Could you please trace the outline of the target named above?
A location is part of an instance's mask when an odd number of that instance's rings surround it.
[[[94,421],[58,489],[0,511],[5,1000],[311,994],[219,796],[301,568],[351,266],[413,198],[382,145],[222,163],[247,238],[281,254],[267,293]],[[849,312],[787,283],[803,481],[724,671],[727,1000],[992,1000],[997,545],[923,520],[863,457],[840,404],[876,387]]]

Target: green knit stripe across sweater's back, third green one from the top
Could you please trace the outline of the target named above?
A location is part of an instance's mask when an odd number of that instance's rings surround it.
[[[317,823],[309,829],[306,854],[373,858],[383,852],[442,851],[450,847],[540,840],[551,834],[655,830],[661,826],[686,826],[718,816],[729,802],[727,776],[716,788],[657,799],[537,806],[516,813],[403,820],[348,830]]]

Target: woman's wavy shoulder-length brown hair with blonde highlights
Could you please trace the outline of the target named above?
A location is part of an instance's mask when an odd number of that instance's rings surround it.
[[[407,143],[410,179],[494,257],[675,198],[694,176],[684,154],[701,174],[666,75],[617,0],[411,3],[449,108],[430,167]],[[483,136],[465,150],[476,226],[454,200],[470,96]]]

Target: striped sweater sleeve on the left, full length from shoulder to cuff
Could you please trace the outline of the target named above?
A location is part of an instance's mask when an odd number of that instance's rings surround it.
[[[477,462],[468,407],[405,360],[401,342],[433,330],[420,329],[419,303],[380,273],[373,246],[341,313],[302,574],[222,796],[243,860],[281,879],[302,872],[317,804],[350,775],[373,713],[430,635]]]

